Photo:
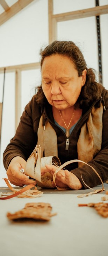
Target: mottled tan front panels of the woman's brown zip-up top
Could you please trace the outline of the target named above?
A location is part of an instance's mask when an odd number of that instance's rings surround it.
[[[102,115],[103,105],[100,108],[93,106],[87,122],[82,126],[77,143],[78,159],[89,162],[101,150],[102,144]],[[37,145],[41,146],[41,157],[51,155],[58,156],[57,152],[57,135],[48,121],[45,122],[45,130],[42,125],[42,117],[39,121]],[[79,167],[82,164],[79,162]]]

